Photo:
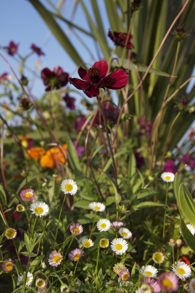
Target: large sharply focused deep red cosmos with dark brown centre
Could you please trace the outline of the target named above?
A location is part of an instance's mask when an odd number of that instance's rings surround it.
[[[118,68],[113,73],[106,76],[108,64],[102,60],[94,63],[88,70],[80,67],[78,74],[80,78],[69,77],[70,84],[82,90],[88,98],[99,95],[99,88],[110,88],[113,90],[123,88],[128,82],[128,75],[123,69]]]

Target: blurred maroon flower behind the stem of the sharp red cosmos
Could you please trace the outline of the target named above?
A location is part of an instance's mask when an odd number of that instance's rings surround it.
[[[116,124],[117,120],[118,120],[118,115],[119,115],[119,111],[116,107],[113,107],[110,105],[110,103],[106,102],[102,105],[106,120],[109,120],[108,122],[110,122],[110,126],[113,126],[114,124]],[[103,120],[103,116],[101,114],[101,111],[99,110],[94,123],[93,123],[94,127],[98,127],[99,125],[104,125],[104,120]],[[101,127],[100,127],[101,128]]]

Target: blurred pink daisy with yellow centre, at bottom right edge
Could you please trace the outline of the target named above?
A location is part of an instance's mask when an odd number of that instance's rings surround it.
[[[177,292],[179,280],[173,273],[162,273],[157,282],[163,291]]]

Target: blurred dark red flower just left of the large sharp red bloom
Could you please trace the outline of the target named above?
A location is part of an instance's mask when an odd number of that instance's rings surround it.
[[[68,82],[68,73],[64,72],[60,66],[55,66],[52,71],[49,68],[44,68],[41,71],[41,78],[45,86],[48,86],[45,91],[50,91],[51,87],[58,89],[65,86]]]

